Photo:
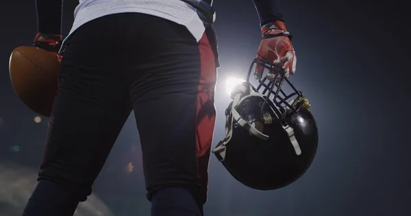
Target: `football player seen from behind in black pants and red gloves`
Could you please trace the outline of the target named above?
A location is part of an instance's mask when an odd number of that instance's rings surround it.
[[[293,74],[279,1],[253,3],[263,36],[257,56]],[[38,184],[23,215],[73,215],[131,111],[151,215],[203,215],[219,67],[212,0],[79,0],[63,42],[62,1],[36,0],[36,10],[34,45],[61,65]]]

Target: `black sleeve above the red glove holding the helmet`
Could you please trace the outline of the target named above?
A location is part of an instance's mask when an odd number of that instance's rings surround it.
[[[283,21],[284,18],[279,12],[279,0],[253,0],[254,5],[260,18],[260,26],[273,22]]]

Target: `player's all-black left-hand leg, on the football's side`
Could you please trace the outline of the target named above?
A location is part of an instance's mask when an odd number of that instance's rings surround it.
[[[63,53],[39,181],[25,216],[73,215],[132,110],[122,68],[113,64],[121,60],[110,28],[108,18],[80,27]]]

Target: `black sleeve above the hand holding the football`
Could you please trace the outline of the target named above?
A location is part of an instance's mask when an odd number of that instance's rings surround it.
[[[37,31],[62,34],[63,0],[36,0]]]

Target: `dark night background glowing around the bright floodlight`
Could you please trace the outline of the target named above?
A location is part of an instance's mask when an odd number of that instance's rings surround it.
[[[410,12],[405,1],[282,2],[297,54],[292,82],[312,104],[319,150],[302,178],[276,191],[240,185],[212,156],[206,215],[410,215]],[[76,4],[65,2],[65,34]],[[222,66],[213,145],[224,136],[225,79],[245,78],[260,42],[251,1],[216,0],[214,8]],[[0,162],[35,171],[48,120],[34,122],[36,113],[14,94],[8,75],[11,51],[31,44],[36,34],[34,1],[1,1],[0,16]],[[141,168],[131,117],[94,187],[114,215],[149,215]],[[1,177],[0,183],[0,190],[6,187]]]

